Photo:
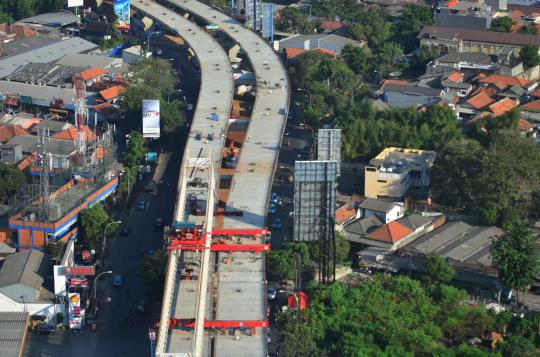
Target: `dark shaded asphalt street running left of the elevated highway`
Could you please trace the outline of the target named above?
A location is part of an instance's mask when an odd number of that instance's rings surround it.
[[[188,102],[195,104],[199,90],[198,73],[193,69],[185,54],[179,51],[163,50],[164,58],[174,59],[174,67],[181,71],[182,94],[171,95],[171,100],[186,96]],[[189,123],[192,112],[186,111]],[[181,142],[181,140],[179,140]],[[180,150],[179,150],[180,151]],[[100,318],[95,332],[85,329],[81,333],[57,330],[53,336],[28,334],[23,356],[25,357],[122,357],[148,356],[148,329],[159,319],[161,301],[149,301],[146,288],[138,277],[137,271],[145,254],[161,249],[163,236],[154,228],[157,218],[163,218],[165,224],[172,220],[176,182],[180,168],[181,153],[173,154],[163,176],[163,185],[157,197],[138,193],[129,214],[123,217],[123,225],[132,228],[127,237],[117,237],[110,242],[106,260],[108,268],[123,278],[123,286],[112,286],[111,277],[103,276],[98,283],[98,301]],[[139,200],[148,201],[145,211],[136,210]],[[106,299],[111,298],[107,303]],[[137,314],[138,301],[149,304],[144,314]],[[132,316],[132,323],[127,317]],[[1,353],[0,353],[1,355]]]

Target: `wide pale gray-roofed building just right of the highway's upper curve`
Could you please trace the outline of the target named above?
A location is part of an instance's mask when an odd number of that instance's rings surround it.
[[[363,47],[366,43],[365,41],[360,42],[334,34],[296,35],[279,41],[279,51],[282,52],[286,48],[300,48],[304,50],[321,48],[340,54],[346,45]]]

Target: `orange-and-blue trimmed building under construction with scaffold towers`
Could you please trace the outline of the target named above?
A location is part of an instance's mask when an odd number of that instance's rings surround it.
[[[27,158],[30,183],[9,200],[10,215],[20,213],[23,220],[59,220],[118,170],[112,127],[87,142],[84,153],[75,150],[73,141],[51,139],[46,129],[38,133],[37,146],[40,152]]]

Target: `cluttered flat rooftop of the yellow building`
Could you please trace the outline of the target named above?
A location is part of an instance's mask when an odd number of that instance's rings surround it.
[[[434,161],[434,151],[389,147],[381,151],[369,164],[380,169],[392,168],[391,172],[400,173],[407,168],[431,167]]]

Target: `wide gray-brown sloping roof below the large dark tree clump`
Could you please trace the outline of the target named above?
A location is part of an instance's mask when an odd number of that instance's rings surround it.
[[[503,235],[504,231],[497,227],[453,221],[418,238],[406,249],[422,254],[433,252],[453,261],[490,267],[491,243]]]

